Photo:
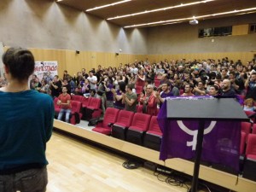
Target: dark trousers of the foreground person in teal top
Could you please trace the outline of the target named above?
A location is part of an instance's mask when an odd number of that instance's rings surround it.
[[[47,169],[29,169],[8,175],[0,175],[1,192],[45,192],[48,183]]]

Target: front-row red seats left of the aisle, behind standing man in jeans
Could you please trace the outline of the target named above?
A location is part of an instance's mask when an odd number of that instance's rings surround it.
[[[57,105],[58,98],[54,100],[55,113],[59,113],[61,106]],[[77,124],[76,118],[92,119],[99,118],[102,115],[102,100],[96,97],[72,96],[71,97],[71,117],[70,123]],[[77,117],[76,117],[77,115]]]

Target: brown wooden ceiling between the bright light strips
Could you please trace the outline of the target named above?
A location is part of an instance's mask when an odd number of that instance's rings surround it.
[[[58,3],[65,4],[67,6],[73,7],[74,9],[79,9],[85,11],[86,9],[92,9],[99,7],[108,3],[116,3],[120,0],[62,0]],[[181,3],[195,3],[201,0],[131,0],[130,2],[120,3],[114,6],[110,6],[103,9],[96,9],[90,12],[86,12],[90,15],[96,15],[104,20],[120,16],[120,15],[131,15],[137,12],[143,12],[153,9],[162,9],[170,6],[177,6]],[[203,1],[201,1],[203,2]],[[186,7],[179,7],[175,9],[166,9],[164,11],[158,11],[154,13],[148,13],[143,15],[134,15],[131,17],[119,18],[117,20],[109,20],[119,26],[131,26],[149,22],[156,22],[160,20],[176,20],[182,18],[189,18],[192,16],[201,15],[212,15],[218,14],[226,11],[234,11],[248,8],[256,8],[255,0],[214,0],[207,3],[199,3]],[[254,10],[256,11],[256,9]],[[207,20],[212,18],[226,17],[237,15],[237,13],[232,13],[229,15],[216,15],[211,17],[205,17],[198,20]],[[188,20],[184,20],[188,21]],[[162,24],[160,24],[162,25]]]

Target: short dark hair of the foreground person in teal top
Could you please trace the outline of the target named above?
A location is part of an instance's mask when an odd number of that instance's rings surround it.
[[[14,79],[26,80],[34,72],[35,60],[30,50],[9,48],[2,60]]]

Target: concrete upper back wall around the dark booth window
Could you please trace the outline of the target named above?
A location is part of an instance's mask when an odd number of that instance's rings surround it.
[[[148,28],[148,54],[243,52],[256,50],[256,33],[249,35],[198,38],[200,28],[255,23],[256,14],[218,20],[200,20],[199,25],[181,23]]]

